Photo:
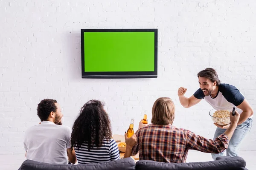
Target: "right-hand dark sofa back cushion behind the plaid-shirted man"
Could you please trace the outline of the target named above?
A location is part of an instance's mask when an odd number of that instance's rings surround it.
[[[208,162],[163,163],[141,160],[136,170],[244,170],[246,163],[239,156]]]

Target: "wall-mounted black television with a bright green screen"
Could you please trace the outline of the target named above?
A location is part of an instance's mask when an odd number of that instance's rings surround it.
[[[157,29],[81,29],[82,78],[156,78]]]

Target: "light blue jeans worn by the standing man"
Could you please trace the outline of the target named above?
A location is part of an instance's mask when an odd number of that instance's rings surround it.
[[[247,135],[247,133],[250,131],[252,124],[253,124],[253,119],[248,118],[246,121],[238,125],[236,127],[236,130],[233,133],[232,138],[229,141],[227,149],[224,150],[222,153],[218,153],[218,154],[212,153],[212,159],[215,160],[219,156],[225,156],[224,155],[225,151],[226,151],[226,156],[231,156],[231,157],[237,156],[239,145],[241,144],[242,140]],[[217,127],[213,138],[215,139],[225,131],[226,129],[221,129]]]

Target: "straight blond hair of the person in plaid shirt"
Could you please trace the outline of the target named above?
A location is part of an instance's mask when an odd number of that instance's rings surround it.
[[[156,125],[172,124],[175,118],[175,105],[169,97],[158,98],[152,108],[151,123]]]

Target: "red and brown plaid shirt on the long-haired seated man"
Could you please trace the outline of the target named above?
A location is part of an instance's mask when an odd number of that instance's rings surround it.
[[[131,154],[140,151],[140,160],[180,163],[186,162],[189,149],[221,153],[228,147],[225,134],[210,140],[173,125],[150,124],[137,130],[136,136],[137,144]]]

